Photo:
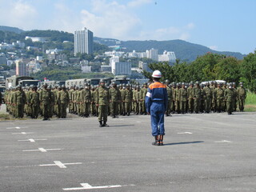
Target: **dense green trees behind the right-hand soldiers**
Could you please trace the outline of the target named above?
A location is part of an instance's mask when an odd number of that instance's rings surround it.
[[[244,82],[247,89],[256,92],[256,50],[242,60],[223,54],[207,53],[194,62],[181,62],[177,59],[174,65],[158,62],[151,63],[149,67],[151,70],[162,72],[162,81],[169,79],[170,82]],[[142,74],[152,79],[149,71],[143,70]]]

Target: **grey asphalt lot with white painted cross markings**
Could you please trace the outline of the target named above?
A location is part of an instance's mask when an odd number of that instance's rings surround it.
[[[0,191],[256,191],[255,117],[174,114],[164,146],[148,115],[2,121]]]

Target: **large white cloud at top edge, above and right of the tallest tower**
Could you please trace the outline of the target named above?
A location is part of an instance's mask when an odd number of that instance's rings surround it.
[[[82,25],[95,36],[125,40],[138,30],[141,20],[127,6],[118,2],[94,0],[92,9],[82,10]]]

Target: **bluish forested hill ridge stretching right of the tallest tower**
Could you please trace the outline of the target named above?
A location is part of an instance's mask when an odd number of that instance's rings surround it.
[[[158,50],[158,54],[162,54],[164,50],[174,51],[176,54],[176,58],[181,59],[183,61],[194,61],[198,56],[206,54],[208,52],[216,53],[216,54],[226,54],[227,56],[235,57],[238,59],[242,59],[246,55],[237,53],[237,52],[229,52],[229,51],[216,51],[211,50],[206,46],[201,46],[198,44],[182,41],[182,40],[170,40],[170,41],[119,41],[118,39],[113,38],[97,38],[96,40],[99,43],[102,43],[106,46],[115,46],[118,45],[122,49],[126,51],[136,50],[137,52],[142,52],[145,50],[150,50],[154,48]]]

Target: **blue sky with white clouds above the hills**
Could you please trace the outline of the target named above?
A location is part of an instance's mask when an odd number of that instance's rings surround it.
[[[0,0],[0,25],[86,27],[100,38],[182,39],[242,54],[256,48],[256,0]],[[170,50],[171,51],[171,50]]]

